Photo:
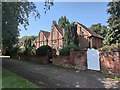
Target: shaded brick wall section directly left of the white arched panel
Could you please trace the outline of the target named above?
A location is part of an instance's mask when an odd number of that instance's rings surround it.
[[[75,67],[80,70],[86,70],[87,53],[86,51],[71,51],[69,56],[53,56],[52,63],[54,65]]]

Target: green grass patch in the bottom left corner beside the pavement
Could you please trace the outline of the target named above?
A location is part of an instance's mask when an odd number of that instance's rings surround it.
[[[26,79],[2,69],[2,88],[40,88]]]

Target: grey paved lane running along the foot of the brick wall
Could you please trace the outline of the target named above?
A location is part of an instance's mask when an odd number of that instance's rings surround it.
[[[2,67],[41,86],[42,88],[118,88],[120,81],[100,78],[87,72],[67,71],[55,68],[52,64],[4,59]]]

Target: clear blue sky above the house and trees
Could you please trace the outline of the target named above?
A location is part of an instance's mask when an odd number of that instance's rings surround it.
[[[21,27],[20,37],[22,36],[38,36],[40,30],[51,31],[52,21],[58,22],[61,16],[66,16],[70,22],[77,21],[87,27],[92,24],[101,23],[107,25],[107,3],[108,2],[54,2],[54,6],[50,11],[44,13],[44,2],[36,2],[39,10],[40,19],[34,18],[31,14],[29,17],[30,25],[28,30]]]

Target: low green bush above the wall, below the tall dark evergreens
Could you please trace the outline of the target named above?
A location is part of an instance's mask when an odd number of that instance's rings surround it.
[[[70,55],[70,50],[73,49],[74,51],[80,51],[80,47],[76,45],[68,45],[60,50],[61,56],[67,56]]]

